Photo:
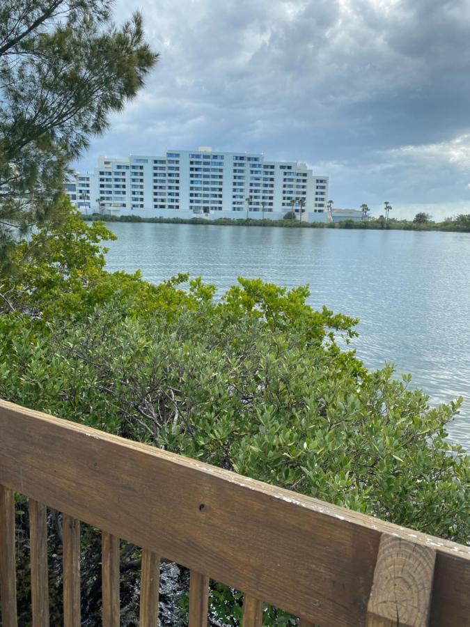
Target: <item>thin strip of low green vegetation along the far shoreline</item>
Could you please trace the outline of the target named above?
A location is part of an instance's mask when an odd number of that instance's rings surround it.
[[[470,214],[458,215],[443,222],[416,222],[414,220],[398,220],[390,218],[385,222],[383,217],[363,220],[342,220],[341,222],[299,222],[297,219],[284,217],[281,220],[270,219],[207,219],[201,217],[141,217],[139,215],[105,215],[102,213],[82,214],[88,222],[152,222],[157,224],[209,224],[214,226],[281,226],[287,229],[379,229],[391,231],[449,231],[470,233]]]

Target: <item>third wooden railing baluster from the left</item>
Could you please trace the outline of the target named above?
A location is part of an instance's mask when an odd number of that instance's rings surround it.
[[[63,533],[63,624],[80,627],[80,521],[62,517]]]

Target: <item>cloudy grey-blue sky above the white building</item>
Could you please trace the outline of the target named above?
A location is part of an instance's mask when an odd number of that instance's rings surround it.
[[[334,206],[470,212],[470,0],[118,0],[160,60],[97,155],[307,162]]]

